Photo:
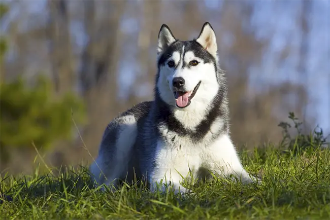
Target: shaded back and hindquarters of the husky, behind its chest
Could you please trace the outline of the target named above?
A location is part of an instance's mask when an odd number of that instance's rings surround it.
[[[152,103],[141,102],[109,123],[102,137],[98,157],[90,167],[95,184],[115,184],[117,178],[131,181],[134,175],[139,175],[139,152],[134,145]]]

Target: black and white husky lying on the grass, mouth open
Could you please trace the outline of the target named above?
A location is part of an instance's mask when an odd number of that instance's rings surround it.
[[[176,39],[162,24],[157,67],[154,100],[133,106],[105,129],[90,166],[95,186],[145,179],[152,192],[170,186],[186,193],[182,177],[208,178],[203,170],[243,184],[258,181],[230,139],[227,84],[211,24],[191,41]]]

